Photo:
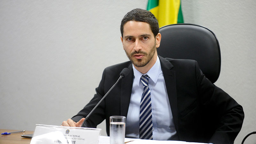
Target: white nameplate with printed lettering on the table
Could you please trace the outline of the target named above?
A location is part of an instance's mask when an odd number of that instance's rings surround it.
[[[36,124],[30,144],[98,144],[101,129]]]

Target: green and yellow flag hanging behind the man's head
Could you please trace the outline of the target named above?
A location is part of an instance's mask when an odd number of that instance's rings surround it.
[[[181,0],[148,0],[147,10],[155,15],[159,27],[184,22]]]

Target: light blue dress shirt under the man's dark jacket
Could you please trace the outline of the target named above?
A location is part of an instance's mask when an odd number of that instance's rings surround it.
[[[133,65],[132,68],[134,76],[131,100],[126,118],[125,135],[126,137],[139,138],[140,100],[143,93],[140,77],[143,74],[134,68]],[[164,82],[164,75],[158,57],[154,66],[146,74],[150,77],[148,86],[152,102],[153,140],[170,140],[176,137],[177,134]]]

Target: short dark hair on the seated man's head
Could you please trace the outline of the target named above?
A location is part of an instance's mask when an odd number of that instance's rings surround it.
[[[143,9],[133,9],[124,16],[121,22],[120,29],[122,37],[124,34],[124,24],[131,20],[148,23],[155,37],[159,33],[158,21],[156,20],[156,17],[153,13]]]

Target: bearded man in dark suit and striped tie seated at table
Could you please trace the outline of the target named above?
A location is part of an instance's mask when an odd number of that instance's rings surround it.
[[[196,61],[157,55],[161,34],[151,12],[128,12],[121,22],[121,34],[130,61],[105,68],[92,100],[63,126],[81,126],[121,70],[129,68],[129,74],[88,118],[87,127],[106,119],[109,135],[109,116],[126,116],[126,137],[234,143],[244,119],[242,106],[212,84]]]

